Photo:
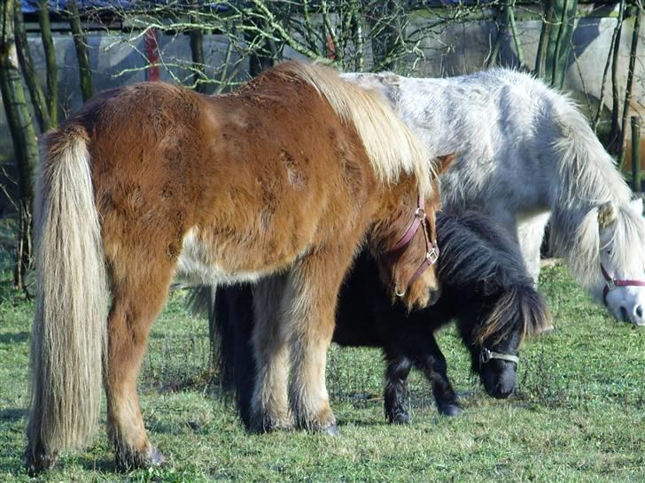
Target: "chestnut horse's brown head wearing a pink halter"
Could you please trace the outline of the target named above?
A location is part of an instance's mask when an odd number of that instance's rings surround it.
[[[439,173],[453,162],[454,155],[439,157]],[[378,249],[373,250],[385,287],[392,298],[400,299],[411,310],[423,308],[439,299],[439,259],[435,211],[440,208],[439,182],[432,181],[432,196],[403,196],[409,202],[398,207],[394,222],[381,226]]]

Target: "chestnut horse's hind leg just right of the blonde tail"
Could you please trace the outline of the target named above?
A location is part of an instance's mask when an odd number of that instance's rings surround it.
[[[105,393],[108,435],[120,469],[147,467],[164,461],[148,440],[136,393],[148,334],[166,301],[172,275],[172,266],[154,257],[151,259],[154,262],[147,267],[129,265],[127,277],[113,282]]]

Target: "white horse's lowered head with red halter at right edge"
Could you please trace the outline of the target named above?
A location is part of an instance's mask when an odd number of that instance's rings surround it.
[[[645,219],[641,199],[598,207],[600,266],[595,294],[614,317],[645,326]]]

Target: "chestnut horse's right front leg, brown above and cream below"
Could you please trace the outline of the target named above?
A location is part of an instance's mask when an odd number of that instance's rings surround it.
[[[291,327],[290,403],[296,424],[338,434],[325,384],[327,349],[350,249],[316,249],[291,270],[284,300]]]

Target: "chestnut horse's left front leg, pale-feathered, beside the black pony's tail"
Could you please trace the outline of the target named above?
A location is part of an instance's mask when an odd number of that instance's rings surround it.
[[[261,280],[253,293],[256,377],[250,429],[255,432],[293,426],[287,398],[289,348],[281,307],[285,283],[284,276]]]

